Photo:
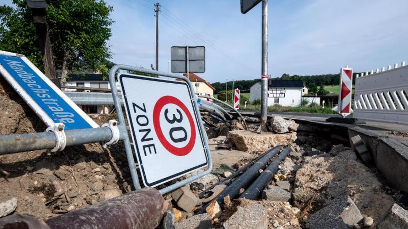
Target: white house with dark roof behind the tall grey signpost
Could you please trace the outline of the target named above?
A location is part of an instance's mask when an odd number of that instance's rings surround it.
[[[279,104],[281,106],[301,106],[303,94],[302,80],[269,80],[268,81],[268,106]],[[261,81],[251,86],[251,103],[261,99]]]

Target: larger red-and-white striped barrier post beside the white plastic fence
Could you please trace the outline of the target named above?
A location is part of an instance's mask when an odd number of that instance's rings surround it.
[[[340,70],[340,91],[339,106],[337,112],[343,117],[351,111],[351,91],[353,90],[353,68],[341,68]]]

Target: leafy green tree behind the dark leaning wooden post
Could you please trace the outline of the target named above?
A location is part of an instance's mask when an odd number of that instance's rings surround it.
[[[25,0],[13,0],[15,7],[0,6],[0,49],[26,55],[43,68],[31,10]],[[107,41],[113,21],[113,7],[103,0],[48,0],[47,23],[55,67],[64,82],[68,72],[106,73],[111,58]]]

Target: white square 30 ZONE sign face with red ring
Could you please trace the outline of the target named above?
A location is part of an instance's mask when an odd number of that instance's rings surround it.
[[[208,165],[188,84],[120,75],[133,146],[145,186],[154,187]]]

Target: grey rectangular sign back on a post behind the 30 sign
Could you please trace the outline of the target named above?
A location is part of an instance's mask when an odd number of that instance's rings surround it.
[[[171,72],[187,73],[187,46],[171,47]],[[190,73],[205,72],[205,47],[188,46],[188,71]]]

